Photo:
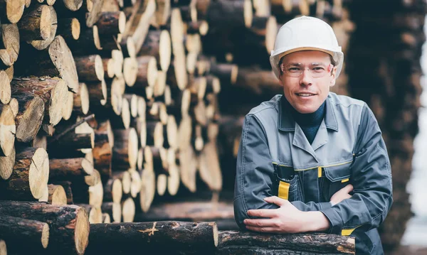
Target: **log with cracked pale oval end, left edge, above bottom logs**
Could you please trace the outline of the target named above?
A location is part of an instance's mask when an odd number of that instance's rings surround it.
[[[14,200],[34,200],[43,196],[49,178],[48,153],[43,148],[19,148],[14,170],[1,183],[1,197]]]

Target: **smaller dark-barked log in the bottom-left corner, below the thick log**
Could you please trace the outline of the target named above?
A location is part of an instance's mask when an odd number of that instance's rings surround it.
[[[0,216],[0,238],[7,242],[11,253],[43,252],[49,244],[49,224],[20,217]],[[25,245],[22,241],[25,240]]]

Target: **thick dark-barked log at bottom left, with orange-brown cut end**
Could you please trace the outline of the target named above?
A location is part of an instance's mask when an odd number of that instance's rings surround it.
[[[50,227],[48,251],[84,254],[88,246],[89,221],[85,208],[41,202],[0,201],[0,215],[46,222]]]

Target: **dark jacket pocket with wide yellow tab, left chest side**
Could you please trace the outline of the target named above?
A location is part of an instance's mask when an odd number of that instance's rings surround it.
[[[275,165],[275,195],[289,201],[301,201],[300,178],[289,166]]]

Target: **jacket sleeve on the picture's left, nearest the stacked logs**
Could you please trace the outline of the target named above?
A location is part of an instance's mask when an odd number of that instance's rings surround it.
[[[256,116],[248,114],[243,122],[238,148],[234,188],[234,217],[241,229],[245,229],[243,220],[249,218],[249,209],[278,208],[263,200],[273,194],[273,173],[273,161],[263,126]]]

